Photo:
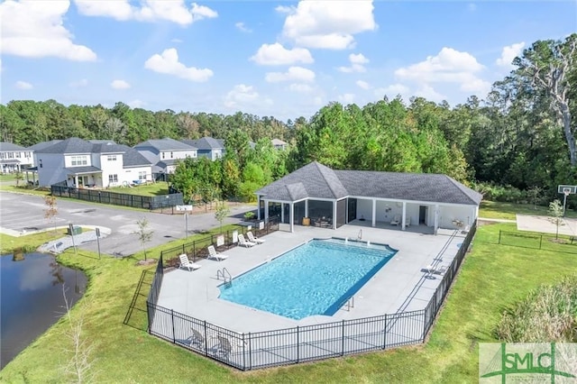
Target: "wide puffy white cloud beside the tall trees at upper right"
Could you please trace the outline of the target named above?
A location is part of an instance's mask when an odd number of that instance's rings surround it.
[[[453,83],[459,84],[462,91],[485,92],[490,88],[489,82],[477,77],[484,68],[470,53],[445,47],[436,56],[397,69],[395,76],[412,80],[420,87],[431,83]]]

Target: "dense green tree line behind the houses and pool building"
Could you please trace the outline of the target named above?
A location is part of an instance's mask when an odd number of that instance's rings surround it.
[[[173,177],[179,189],[197,195],[209,194],[204,188],[249,197],[316,160],[334,169],[444,173],[492,197],[550,198],[558,184],[577,184],[576,59],[573,33],[534,42],[482,100],[470,96],[454,107],[400,96],[364,106],[330,103],[309,119],[288,122],[241,112],[14,100],[0,105],[0,137],[23,146],[71,136],[131,146],[163,137],[224,139],[224,159],[185,160]],[[276,151],[273,138],[289,142],[289,149]]]

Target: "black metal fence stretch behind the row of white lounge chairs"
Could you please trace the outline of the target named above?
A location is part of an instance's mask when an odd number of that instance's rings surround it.
[[[271,232],[279,231],[279,217],[270,217],[268,223],[255,222],[251,225],[250,231],[256,236],[263,236]],[[169,248],[160,252],[160,258],[165,261],[165,267],[177,267],[179,264],[179,255],[186,253],[188,260],[197,261],[206,259],[208,256],[208,246],[214,245],[216,251],[225,251],[238,244],[238,235],[249,232],[249,227],[239,225],[237,229],[226,231],[220,234],[211,234],[194,242],[187,242],[178,247]],[[246,238],[246,236],[245,236]],[[155,302],[156,303],[156,302]]]

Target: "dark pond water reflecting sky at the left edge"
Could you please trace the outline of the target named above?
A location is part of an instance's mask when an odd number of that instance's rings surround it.
[[[58,264],[44,253],[0,257],[0,370],[66,312],[69,304],[82,297],[86,275]]]

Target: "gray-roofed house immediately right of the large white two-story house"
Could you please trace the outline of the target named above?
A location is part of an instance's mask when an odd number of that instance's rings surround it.
[[[153,173],[173,173],[178,160],[197,158],[195,146],[170,138],[141,142],[134,149],[151,161]]]

